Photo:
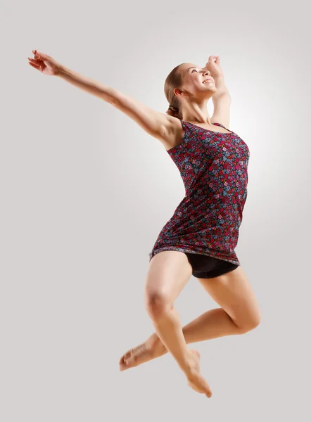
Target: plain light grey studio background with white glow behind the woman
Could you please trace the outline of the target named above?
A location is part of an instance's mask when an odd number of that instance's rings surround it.
[[[1,12],[1,422],[310,418],[307,2],[8,2]],[[250,148],[236,253],[254,331],[193,345],[211,399],[170,354],[119,372],[153,332],[148,252],[184,196],[162,144],[28,64],[32,49],[165,113],[165,77],[220,55]],[[208,104],[212,115],[212,101]],[[182,324],[217,307],[191,277]]]

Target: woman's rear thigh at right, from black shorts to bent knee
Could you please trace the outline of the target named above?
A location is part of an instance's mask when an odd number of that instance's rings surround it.
[[[258,301],[241,265],[222,276],[198,281],[210,297],[229,314],[236,326],[247,329],[259,324]]]

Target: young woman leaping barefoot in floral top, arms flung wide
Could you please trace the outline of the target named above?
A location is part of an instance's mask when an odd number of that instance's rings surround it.
[[[29,64],[110,103],[158,139],[177,165],[186,196],[165,224],[152,251],[144,301],[155,333],[120,359],[129,369],[170,352],[188,384],[211,397],[200,354],[187,344],[246,333],[260,323],[253,290],[234,252],[247,197],[249,150],[229,127],[231,98],[220,58],[205,68],[182,63],[165,80],[170,106],[159,113],[134,98],[84,77],[37,50]],[[214,113],[208,115],[212,97]],[[174,301],[195,276],[220,307],[182,328]]]

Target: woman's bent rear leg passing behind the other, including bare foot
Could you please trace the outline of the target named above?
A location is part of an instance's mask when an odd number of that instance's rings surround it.
[[[220,308],[210,309],[182,328],[187,344],[247,333],[258,326],[258,302],[241,266],[222,276],[198,281]],[[120,369],[137,366],[165,353],[165,346],[158,335],[153,333],[146,342],[121,357]]]

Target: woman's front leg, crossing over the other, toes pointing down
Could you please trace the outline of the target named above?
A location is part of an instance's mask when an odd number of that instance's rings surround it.
[[[158,252],[150,261],[144,302],[155,332],[182,369],[188,384],[207,397],[212,395],[200,373],[199,353],[186,346],[174,301],[192,274],[186,255],[176,250]]]

